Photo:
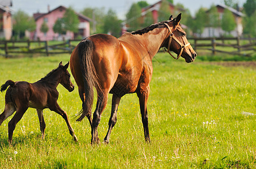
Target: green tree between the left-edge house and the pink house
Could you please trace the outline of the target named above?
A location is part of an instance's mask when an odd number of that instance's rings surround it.
[[[25,30],[33,31],[36,29],[35,20],[21,10],[13,15],[13,19],[13,30],[17,35],[17,39],[20,38],[20,34],[25,34]]]

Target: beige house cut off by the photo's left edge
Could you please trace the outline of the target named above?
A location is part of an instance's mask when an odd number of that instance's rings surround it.
[[[0,38],[10,40],[12,36],[11,0],[0,0]]]

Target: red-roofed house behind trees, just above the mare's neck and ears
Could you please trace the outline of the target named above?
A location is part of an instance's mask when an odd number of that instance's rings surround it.
[[[158,13],[159,13],[161,3],[162,3],[162,0],[154,3],[153,5],[142,8],[142,16],[145,16],[148,12],[152,12],[154,24],[159,23],[159,21],[161,20],[158,20],[158,16],[159,16]],[[170,14],[175,14],[177,13],[177,11],[178,12],[185,11],[183,8],[176,8],[176,6],[174,6],[173,3],[170,3],[170,2],[168,3],[169,3]]]

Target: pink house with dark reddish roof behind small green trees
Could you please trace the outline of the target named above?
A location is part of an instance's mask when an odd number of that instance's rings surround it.
[[[67,8],[64,6],[59,6],[55,8],[54,10],[49,10],[48,6],[48,13],[42,14],[37,12],[36,14],[33,14],[33,17],[36,21],[36,30],[35,32],[32,32],[30,34],[30,39],[36,40],[40,39],[41,41],[52,41],[52,40],[62,40],[64,39],[74,39],[76,37],[82,37],[86,38],[89,36],[89,19],[86,16],[83,16],[82,14],[76,13],[79,18],[79,31],[78,33],[67,31],[65,35],[59,35],[58,33],[54,33],[53,26],[56,23],[56,21],[60,18],[62,18],[66,12]],[[46,23],[48,26],[48,32],[43,33],[40,31],[41,25],[43,23]]]

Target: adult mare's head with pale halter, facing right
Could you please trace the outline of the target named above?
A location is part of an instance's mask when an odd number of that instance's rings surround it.
[[[190,63],[195,60],[197,53],[195,53],[189,41],[187,41],[186,32],[181,28],[180,21],[181,14],[175,19],[171,15],[169,21],[165,21],[164,24],[169,29],[169,33],[163,47],[174,59],[178,59],[181,56],[184,57],[187,63]],[[177,57],[174,57],[169,51],[175,52]]]

